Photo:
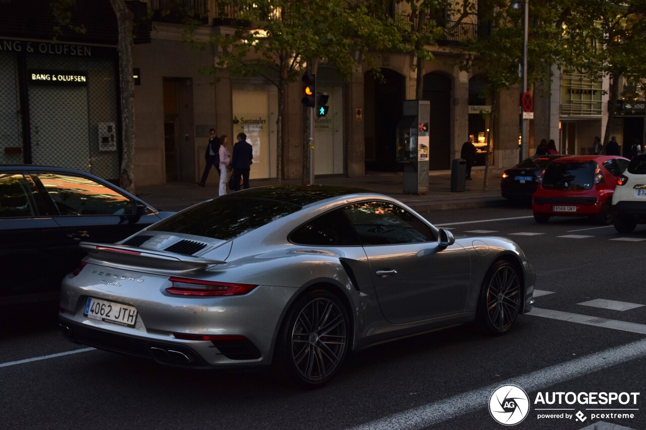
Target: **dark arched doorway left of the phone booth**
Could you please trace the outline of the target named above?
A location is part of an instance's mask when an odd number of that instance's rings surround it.
[[[406,78],[382,68],[383,80],[373,72],[364,76],[364,138],[366,170],[397,172],[395,132],[402,116]]]

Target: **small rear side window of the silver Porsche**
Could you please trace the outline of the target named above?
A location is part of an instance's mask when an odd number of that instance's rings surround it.
[[[342,210],[308,221],[289,236],[298,245],[359,246],[359,238]]]

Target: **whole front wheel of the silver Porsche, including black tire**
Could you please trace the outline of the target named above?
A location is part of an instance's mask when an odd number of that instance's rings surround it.
[[[489,268],[483,281],[476,311],[476,323],[488,334],[504,334],[512,327],[522,305],[519,269],[506,260]]]

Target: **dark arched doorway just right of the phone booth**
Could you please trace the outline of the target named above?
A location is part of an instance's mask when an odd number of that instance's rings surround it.
[[[446,170],[451,164],[450,77],[431,72],[424,75],[422,99],[431,102],[429,170]]]

